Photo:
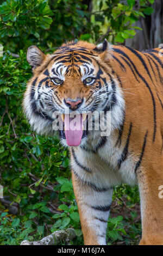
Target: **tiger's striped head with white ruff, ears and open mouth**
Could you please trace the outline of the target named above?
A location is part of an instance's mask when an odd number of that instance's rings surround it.
[[[78,146],[95,132],[87,128],[87,113],[112,110],[111,129],[120,126],[124,101],[109,58],[111,46],[106,40],[97,46],[68,42],[53,54],[30,46],[27,60],[33,77],[24,94],[23,109],[32,128],[41,135],[54,135],[53,124],[62,121],[62,142]]]

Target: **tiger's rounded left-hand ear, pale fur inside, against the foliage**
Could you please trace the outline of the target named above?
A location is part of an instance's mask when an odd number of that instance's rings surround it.
[[[27,50],[27,61],[33,69],[40,66],[45,59],[45,54],[35,45],[32,45]]]

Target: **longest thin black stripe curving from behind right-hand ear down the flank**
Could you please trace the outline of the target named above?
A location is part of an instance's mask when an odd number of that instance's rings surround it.
[[[134,63],[132,62],[132,60],[127,56],[127,54],[123,51],[121,51],[120,49],[116,49],[116,48],[112,48],[112,50],[122,54],[124,57],[126,57],[127,59],[129,59],[130,63],[133,65],[133,68],[135,69],[137,75],[139,75],[139,77],[141,78],[141,80],[146,84],[146,87],[149,90],[149,93],[151,94],[152,97],[152,102],[153,102],[153,119],[154,119],[154,132],[153,132],[153,142],[155,141],[155,134],[156,134],[156,107],[155,107],[155,100],[154,100],[154,96],[152,93],[151,88],[149,87],[149,84],[147,83],[147,81],[145,80],[145,78],[139,73],[139,71],[136,69],[136,66],[134,65]]]

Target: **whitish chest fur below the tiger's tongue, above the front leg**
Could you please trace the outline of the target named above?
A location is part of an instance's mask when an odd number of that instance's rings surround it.
[[[83,145],[83,149],[81,147],[73,149],[72,168],[80,179],[96,184],[98,187],[112,187],[122,183],[136,185],[135,162],[132,156],[128,155],[121,167],[118,167],[117,163],[123,148],[116,148],[115,139],[109,136],[103,147],[99,147],[96,152],[93,152],[99,139],[99,137],[89,139]]]

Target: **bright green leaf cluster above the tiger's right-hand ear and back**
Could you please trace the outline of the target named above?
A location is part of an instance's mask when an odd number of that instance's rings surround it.
[[[103,26],[106,25],[106,33],[102,29],[99,30],[95,39],[101,41],[104,38],[109,38],[109,41],[114,44],[133,38],[136,29],[141,29],[135,26],[134,23],[140,17],[145,17],[145,15],[150,15],[153,12],[153,8],[148,6],[148,3],[153,2],[154,0],[99,1],[98,10],[95,11],[95,22],[101,22]],[[100,34],[102,35],[99,37]]]

